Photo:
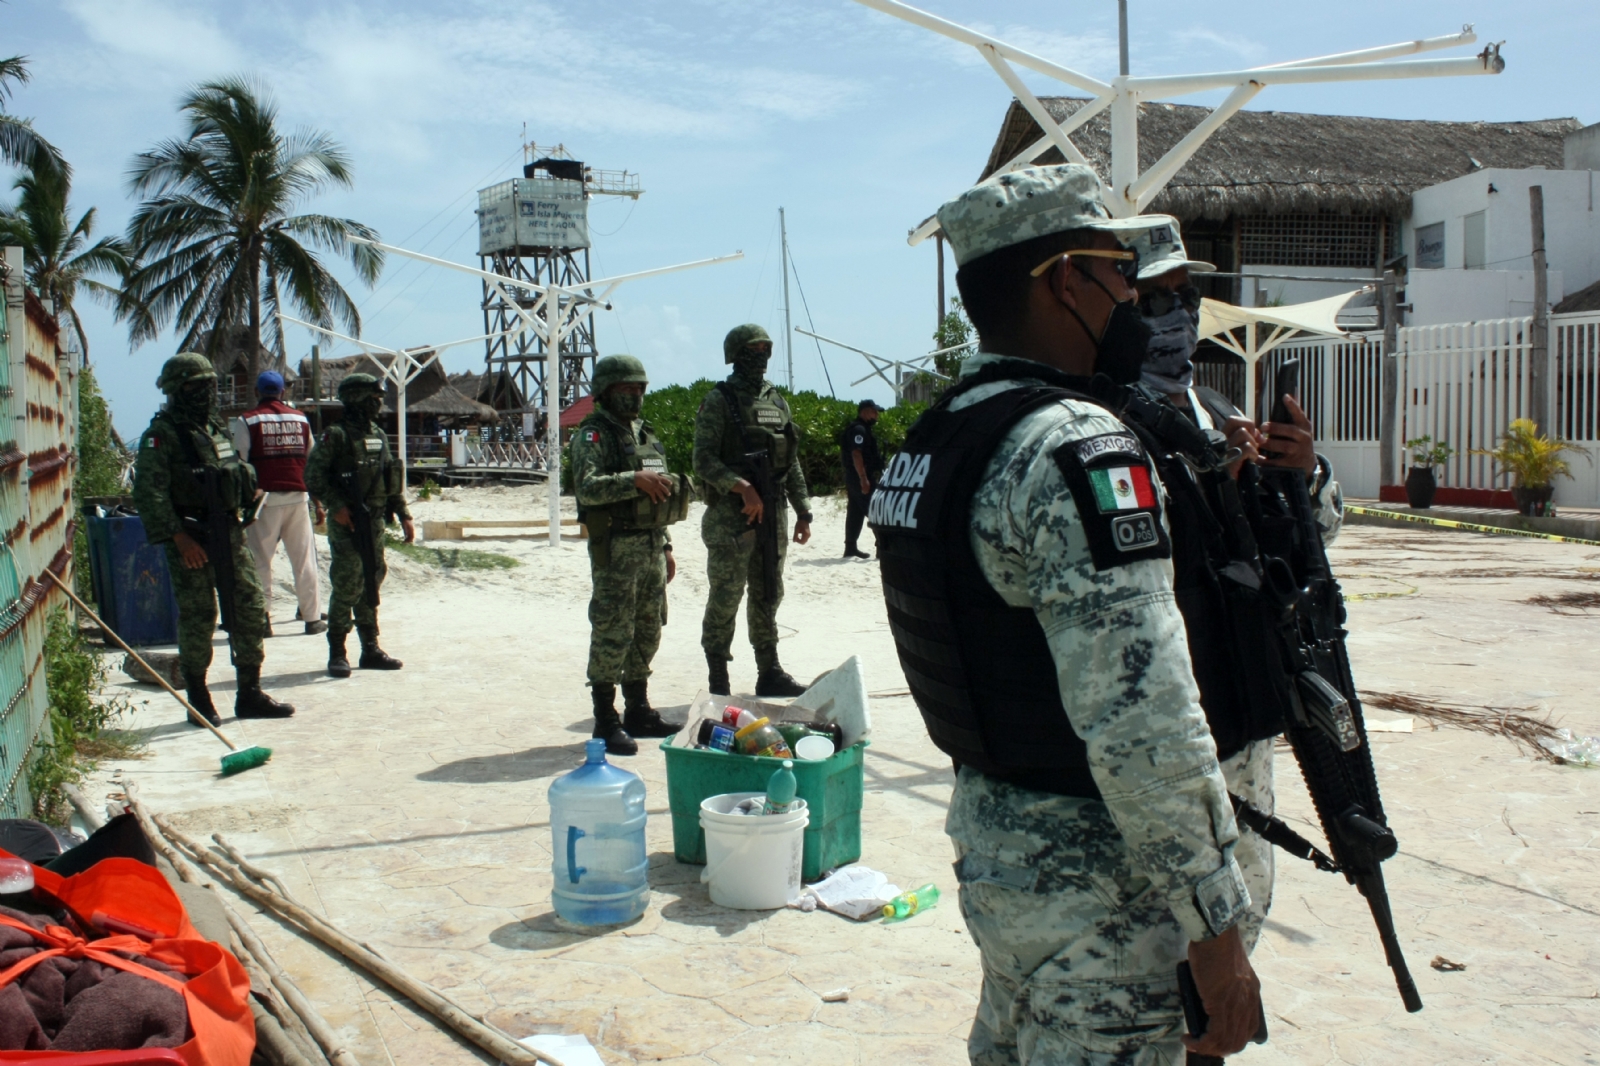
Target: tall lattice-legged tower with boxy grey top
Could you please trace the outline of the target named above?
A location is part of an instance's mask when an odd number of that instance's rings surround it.
[[[563,146],[523,146],[522,178],[478,190],[478,261],[485,271],[526,282],[576,285],[589,280],[589,198],[638,198],[638,174],[594,170]],[[534,298],[522,290],[525,309]],[[544,341],[517,327],[517,314],[501,290],[483,283],[483,331],[493,336],[485,351],[485,381],[478,399],[523,423],[546,408]],[[538,314],[544,317],[544,311]],[[557,400],[568,407],[590,389],[595,349],[594,317],[578,320],[562,341]],[[515,423],[509,429],[520,427]],[[522,427],[523,432],[530,432]]]

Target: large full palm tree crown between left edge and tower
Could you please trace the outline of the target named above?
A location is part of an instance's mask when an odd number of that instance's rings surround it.
[[[133,343],[176,322],[181,349],[205,344],[214,357],[243,327],[254,360],[266,311],[267,339],[282,357],[283,296],[301,317],[328,327],[338,320],[358,335],[355,303],[307,243],[349,256],[371,285],[382,253],[347,238],[376,240],[378,232],[347,218],[291,214],[314,192],[350,187],[344,149],[317,130],[282,134],[270,98],[242,78],[198,86],[181,110],[189,136],[139,154],[128,176],[130,189],[146,197],[128,222],[138,262],[120,306]]]

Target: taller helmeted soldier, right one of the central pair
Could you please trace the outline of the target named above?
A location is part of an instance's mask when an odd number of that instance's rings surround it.
[[[805,685],[778,661],[778,605],[784,599],[789,507],[795,512],[795,544],[811,539],[811,509],[800,471],[800,435],[789,403],[766,379],[773,338],[758,325],[734,327],[722,343],[723,362],[733,365],[726,381],[701,402],[694,418],[694,477],[701,480],[706,514],[706,571],[710,592],[701,624],[701,647],[710,672],[710,691],[726,696],[728,661],[739,600],[749,587],[744,619],[755,648],[755,695],[798,696]],[[763,503],[746,456],[766,451],[778,488],[778,586],[766,595],[762,551],[755,543]],[[784,506],[789,504],[789,507]]]

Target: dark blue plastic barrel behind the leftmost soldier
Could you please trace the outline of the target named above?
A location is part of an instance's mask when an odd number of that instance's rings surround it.
[[[83,520],[90,539],[90,581],[99,616],[134,647],[178,642],[178,599],[166,571],[166,549],[144,539],[144,522],[131,514],[96,514]]]

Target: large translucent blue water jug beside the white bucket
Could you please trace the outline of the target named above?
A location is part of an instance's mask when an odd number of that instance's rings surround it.
[[[555,912],[576,925],[616,925],[650,903],[645,783],[584,744],[584,765],[550,784]]]

